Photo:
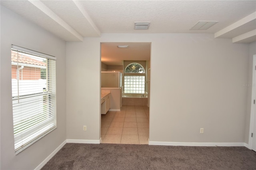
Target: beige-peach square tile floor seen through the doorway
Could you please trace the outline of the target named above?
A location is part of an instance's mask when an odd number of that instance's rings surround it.
[[[101,115],[102,143],[148,144],[149,108],[122,106]]]

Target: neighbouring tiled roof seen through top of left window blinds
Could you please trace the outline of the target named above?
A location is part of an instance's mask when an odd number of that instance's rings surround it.
[[[19,63],[24,63],[24,64],[32,64],[32,65],[42,65],[42,66],[46,66],[46,63],[33,59],[31,57],[28,57],[26,55],[21,55],[19,54],[19,57],[17,57],[17,52],[16,51],[12,51],[12,62],[18,62]]]

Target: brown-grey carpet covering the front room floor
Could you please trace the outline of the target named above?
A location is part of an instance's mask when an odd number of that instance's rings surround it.
[[[65,144],[42,170],[256,170],[246,147]]]

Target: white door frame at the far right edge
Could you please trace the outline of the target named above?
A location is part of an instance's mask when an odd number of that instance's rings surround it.
[[[251,100],[251,116],[250,116],[250,129],[249,129],[249,140],[248,140],[248,148],[252,149],[252,132],[254,128],[254,116],[256,116],[256,104],[254,104],[254,100],[256,100],[256,55],[253,55],[252,59],[252,100]],[[256,135],[256,132],[254,132],[253,135]]]

